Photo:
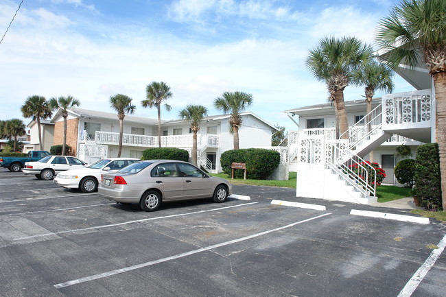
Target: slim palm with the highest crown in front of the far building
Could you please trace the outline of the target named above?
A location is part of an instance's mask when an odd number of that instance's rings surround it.
[[[145,87],[145,93],[147,99],[141,101],[143,107],[156,107],[158,111],[158,146],[161,147],[161,104],[164,102],[165,109],[167,111],[172,110],[172,107],[165,101],[172,97],[170,86],[167,86],[164,82],[152,82]]]

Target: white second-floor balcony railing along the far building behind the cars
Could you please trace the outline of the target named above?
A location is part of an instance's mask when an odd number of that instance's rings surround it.
[[[95,143],[102,145],[118,145],[119,133],[116,132],[95,132]],[[161,136],[161,147],[192,147],[193,135],[172,135]],[[158,136],[123,134],[122,145],[134,147],[159,147]],[[198,134],[197,147],[219,147],[220,137],[215,134]]]

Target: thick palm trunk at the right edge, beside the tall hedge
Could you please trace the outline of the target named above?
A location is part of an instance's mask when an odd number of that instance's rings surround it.
[[[436,100],[436,142],[440,155],[441,201],[446,211],[446,73],[434,73]]]

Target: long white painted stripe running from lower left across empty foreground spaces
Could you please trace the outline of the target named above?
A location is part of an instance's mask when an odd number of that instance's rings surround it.
[[[137,264],[137,265],[132,265],[132,266],[128,266],[126,268],[121,268],[121,269],[117,269],[117,270],[111,270],[109,272],[99,273],[99,274],[95,274],[95,275],[91,275],[91,276],[86,276],[86,277],[83,277],[83,278],[75,279],[73,281],[67,281],[67,282],[64,282],[64,283],[58,283],[58,284],[54,285],[54,287],[56,287],[56,289],[60,289],[62,287],[69,287],[71,285],[77,285],[79,283],[85,283],[87,281],[94,281],[94,280],[99,279],[99,278],[105,278],[105,277],[113,276],[113,275],[120,274],[120,273],[123,273],[123,272],[129,272],[129,271],[132,271],[132,270],[137,270],[139,268],[148,267],[150,265],[154,265],[154,264],[163,263],[163,262],[170,261],[170,260],[175,260],[175,259],[187,257],[187,256],[190,256],[191,254],[197,254],[198,252],[204,252],[204,251],[207,251],[207,250],[213,250],[214,248],[220,248],[222,246],[228,246],[230,244],[237,243],[237,242],[240,242],[240,241],[246,241],[248,239],[253,239],[255,237],[259,237],[259,236],[262,236],[262,235],[273,233],[273,232],[276,232],[276,231],[279,231],[279,230],[283,230],[285,228],[290,228],[290,227],[296,226],[298,224],[302,224],[302,223],[305,223],[305,222],[310,222],[310,221],[312,221],[314,219],[318,219],[320,217],[325,217],[326,215],[331,215],[331,214],[332,213],[325,213],[323,215],[318,215],[317,217],[311,217],[309,219],[303,219],[302,221],[294,222],[292,224],[281,226],[279,228],[266,230],[266,231],[263,231],[261,233],[256,233],[256,234],[249,235],[249,236],[246,236],[246,237],[242,237],[242,238],[239,238],[239,239],[233,239],[233,240],[230,240],[230,241],[224,241],[222,243],[217,243],[217,244],[214,244],[212,246],[207,246],[207,247],[204,247],[204,248],[198,248],[196,250],[191,250],[189,252],[183,252],[181,254],[176,254],[174,256],[166,257],[166,258],[163,258],[163,259],[158,259],[158,260],[149,261],[149,262],[145,262],[145,263],[141,263],[141,264]]]

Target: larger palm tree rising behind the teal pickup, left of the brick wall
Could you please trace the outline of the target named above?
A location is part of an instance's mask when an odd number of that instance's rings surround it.
[[[27,97],[25,104],[21,107],[23,117],[32,117],[37,123],[38,143],[40,150],[43,150],[42,132],[40,131],[40,119],[48,119],[51,117],[51,108],[47,99],[43,96],[33,95]]]

